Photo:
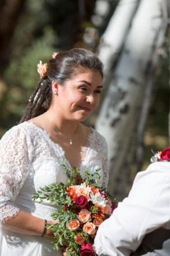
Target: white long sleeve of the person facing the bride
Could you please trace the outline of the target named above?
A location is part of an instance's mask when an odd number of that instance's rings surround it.
[[[129,196],[100,225],[95,238],[96,253],[129,256],[143,237],[159,227],[169,229],[170,162],[152,163],[138,173]]]

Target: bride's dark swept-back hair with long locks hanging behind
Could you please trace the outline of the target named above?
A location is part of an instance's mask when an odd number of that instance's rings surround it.
[[[70,51],[62,51],[50,59],[48,70],[32,93],[20,123],[35,118],[49,109],[52,103],[52,80],[64,86],[66,81],[83,73],[85,69],[98,71],[103,78],[103,63],[93,52],[86,49],[73,48]]]

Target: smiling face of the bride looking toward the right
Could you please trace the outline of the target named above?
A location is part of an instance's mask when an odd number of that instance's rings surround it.
[[[99,94],[102,91],[100,72],[86,69],[66,81],[64,86],[53,82],[53,103],[57,113],[67,120],[84,121],[99,105]]]

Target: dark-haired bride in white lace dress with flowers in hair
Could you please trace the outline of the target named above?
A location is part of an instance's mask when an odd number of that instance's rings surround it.
[[[107,144],[82,125],[99,104],[103,65],[91,51],[74,48],[38,64],[41,80],[20,124],[0,141],[0,256],[60,256],[53,251],[53,205],[32,195],[50,183],[67,184],[60,162],[81,172],[101,168],[108,182]]]

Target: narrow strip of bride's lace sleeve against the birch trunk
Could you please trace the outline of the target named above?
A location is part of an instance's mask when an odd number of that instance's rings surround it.
[[[103,137],[103,161],[102,161],[102,169],[103,169],[103,183],[102,187],[107,187],[108,184],[108,152],[107,152],[107,142]]]

